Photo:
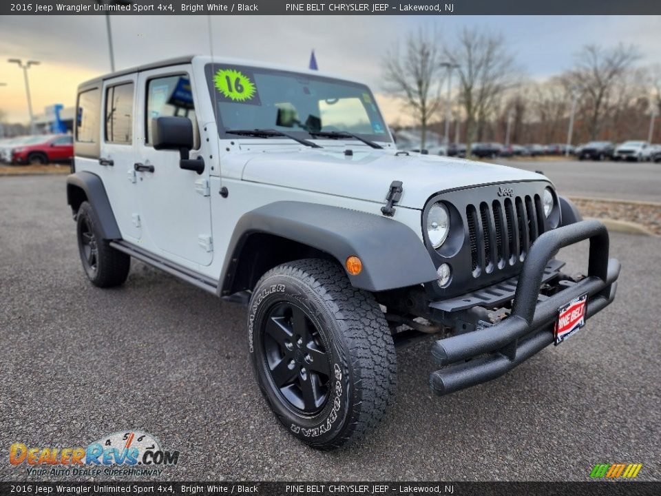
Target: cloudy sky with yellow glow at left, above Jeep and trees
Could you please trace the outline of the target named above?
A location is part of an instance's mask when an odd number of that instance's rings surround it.
[[[183,54],[209,54],[207,16],[112,17],[116,67]],[[314,48],[319,69],[346,74],[381,89],[386,50],[420,25],[452,42],[464,26],[503,34],[526,76],[544,79],[571,67],[585,44],[638,45],[641,65],[661,63],[660,16],[213,16],[213,52],[305,68]],[[36,59],[30,68],[35,113],[53,103],[73,105],[76,85],[109,72],[105,17],[0,17],[0,109],[8,121],[27,121],[23,74],[8,58]],[[397,109],[386,109],[391,120]],[[388,115],[390,114],[390,115]]]

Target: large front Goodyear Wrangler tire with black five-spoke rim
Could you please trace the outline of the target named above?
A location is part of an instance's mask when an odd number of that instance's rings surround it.
[[[327,260],[297,260],[257,283],[249,351],[269,406],[298,439],[332,449],[383,419],[395,346],[379,304]]]

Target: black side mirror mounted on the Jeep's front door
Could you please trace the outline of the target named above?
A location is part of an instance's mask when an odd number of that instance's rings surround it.
[[[193,149],[193,123],[187,117],[162,116],[151,119],[151,141],[154,149],[179,150],[179,167],[202,174],[204,159],[191,160]]]

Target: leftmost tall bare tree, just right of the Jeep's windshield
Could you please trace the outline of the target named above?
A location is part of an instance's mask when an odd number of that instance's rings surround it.
[[[421,147],[425,147],[428,125],[441,106],[443,66],[438,45],[437,34],[421,29],[408,34],[403,52],[396,45],[384,59],[385,89],[412,110],[420,126]]]

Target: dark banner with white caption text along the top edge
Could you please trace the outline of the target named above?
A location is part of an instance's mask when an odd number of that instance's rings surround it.
[[[661,14],[654,0],[26,0],[1,15],[633,15]]]

